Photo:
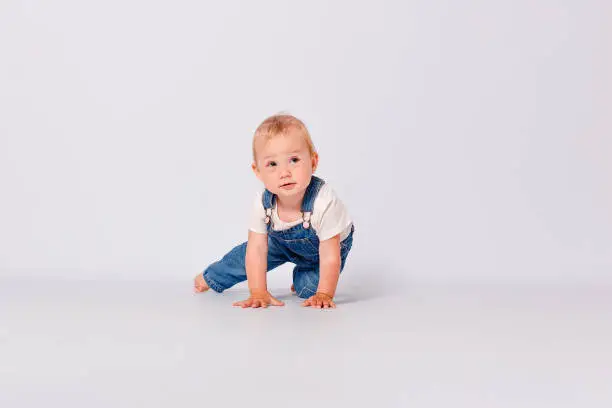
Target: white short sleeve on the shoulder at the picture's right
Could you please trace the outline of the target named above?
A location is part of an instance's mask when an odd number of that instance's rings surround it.
[[[317,201],[319,202],[315,203],[313,227],[320,241],[341,234],[351,225],[352,220],[346,206],[331,188],[321,189]]]

